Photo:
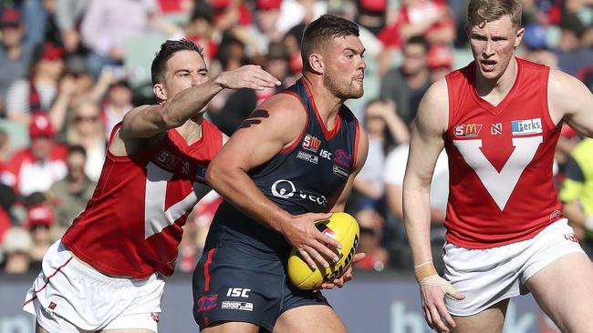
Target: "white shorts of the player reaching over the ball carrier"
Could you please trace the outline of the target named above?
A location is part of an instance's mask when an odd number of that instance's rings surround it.
[[[49,247],[23,307],[48,332],[117,328],[157,332],[164,280],[110,278],[72,257],[61,241]]]

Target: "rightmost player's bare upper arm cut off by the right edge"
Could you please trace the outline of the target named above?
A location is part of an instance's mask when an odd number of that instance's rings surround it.
[[[548,78],[548,106],[555,124],[567,122],[577,132],[593,137],[593,95],[576,77],[551,70]]]

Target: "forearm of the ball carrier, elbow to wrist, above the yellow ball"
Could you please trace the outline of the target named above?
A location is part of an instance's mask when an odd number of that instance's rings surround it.
[[[208,168],[206,181],[245,215],[282,233],[283,224],[290,214],[265,197],[243,170],[211,166]]]

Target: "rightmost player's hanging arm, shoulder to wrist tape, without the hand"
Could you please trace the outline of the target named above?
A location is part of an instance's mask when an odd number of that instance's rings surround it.
[[[403,219],[414,265],[432,260],[430,189],[432,173],[444,146],[448,123],[448,96],[444,80],[422,97],[412,127],[410,155],[403,179]]]

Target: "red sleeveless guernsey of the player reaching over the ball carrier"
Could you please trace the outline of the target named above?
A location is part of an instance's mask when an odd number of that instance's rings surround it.
[[[108,152],[93,197],[62,242],[109,275],[147,278],[158,271],[171,276],[182,226],[210,191],[206,167],[222,146],[222,133],[204,119],[202,138],[191,146],[171,129],[140,154]]]

